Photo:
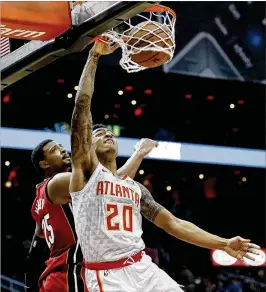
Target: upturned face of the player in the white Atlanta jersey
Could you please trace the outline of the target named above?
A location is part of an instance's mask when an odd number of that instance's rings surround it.
[[[93,131],[93,146],[96,154],[114,153],[117,156],[117,141],[113,132],[106,128],[98,128]]]

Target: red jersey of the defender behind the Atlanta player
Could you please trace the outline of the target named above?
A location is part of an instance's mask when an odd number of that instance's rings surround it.
[[[66,271],[70,266],[81,263],[83,256],[75,232],[72,205],[56,205],[47,195],[51,178],[36,186],[36,198],[31,208],[34,220],[41,226],[50,258],[40,281],[54,270]]]

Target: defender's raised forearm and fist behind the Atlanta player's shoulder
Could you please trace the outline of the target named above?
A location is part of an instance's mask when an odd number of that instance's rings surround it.
[[[134,178],[143,158],[157,146],[158,142],[156,141],[147,138],[141,139],[134,147],[134,153],[127,160],[127,162],[118,169],[117,174],[119,176],[128,175],[129,177]]]

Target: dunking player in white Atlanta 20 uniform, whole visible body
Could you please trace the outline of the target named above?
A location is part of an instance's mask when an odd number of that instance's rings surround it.
[[[180,286],[145,255],[142,218],[189,243],[221,249],[244,260],[259,247],[239,236],[225,239],[180,220],[154,201],[150,192],[128,177],[118,177],[117,141],[105,126],[92,128],[90,112],[100,55],[111,53],[103,43],[90,51],[83,70],[71,122],[72,197],[90,292],[173,292]],[[248,253],[247,253],[248,252]]]

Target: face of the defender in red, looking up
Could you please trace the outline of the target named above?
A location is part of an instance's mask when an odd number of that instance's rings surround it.
[[[47,143],[43,147],[44,162],[46,167],[50,167],[53,171],[65,171],[71,166],[71,159],[66,149],[55,141]]]

